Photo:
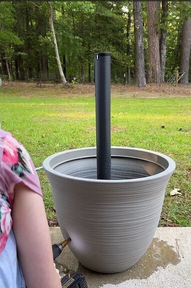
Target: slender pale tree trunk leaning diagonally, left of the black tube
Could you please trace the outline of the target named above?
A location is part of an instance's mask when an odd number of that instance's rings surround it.
[[[63,85],[68,86],[68,83],[65,79],[65,76],[63,74],[62,68],[61,68],[61,62],[59,59],[59,53],[58,53],[58,48],[57,48],[57,41],[56,41],[56,37],[55,37],[55,31],[54,31],[54,27],[53,27],[53,18],[52,18],[52,6],[50,2],[47,2],[48,6],[49,6],[49,22],[50,22],[50,30],[51,30],[51,34],[52,34],[52,39],[53,39],[53,44],[54,44],[54,50],[55,50],[55,58],[57,61],[57,66],[58,66],[58,70],[59,70],[59,75],[61,78],[61,82]]]

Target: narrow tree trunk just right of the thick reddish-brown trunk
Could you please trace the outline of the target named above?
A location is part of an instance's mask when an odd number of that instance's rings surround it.
[[[161,29],[160,29],[160,70],[161,81],[164,82],[165,62],[166,62],[166,34],[165,29],[167,21],[168,2],[162,0],[162,15],[161,15]]]

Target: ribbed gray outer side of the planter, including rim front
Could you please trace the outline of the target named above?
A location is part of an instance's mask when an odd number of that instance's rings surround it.
[[[137,149],[139,159],[140,151]],[[168,165],[163,172],[126,181],[60,176],[47,167],[52,158],[44,161],[61,232],[64,238],[71,237],[69,247],[81,264],[98,272],[120,272],[143,255],[155,233],[165,188],[175,168],[174,162],[164,157]]]

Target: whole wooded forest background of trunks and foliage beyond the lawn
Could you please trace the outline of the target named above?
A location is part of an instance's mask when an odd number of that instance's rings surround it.
[[[93,54],[110,52],[113,83],[160,84],[179,71],[188,84],[190,46],[190,2],[0,3],[0,77],[9,81],[91,83]]]

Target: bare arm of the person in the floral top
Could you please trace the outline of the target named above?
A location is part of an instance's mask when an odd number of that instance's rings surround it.
[[[42,197],[23,183],[14,188],[12,223],[27,288],[60,288]]]

